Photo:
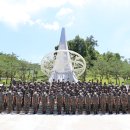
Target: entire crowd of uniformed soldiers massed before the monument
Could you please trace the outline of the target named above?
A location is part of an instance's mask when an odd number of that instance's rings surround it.
[[[19,82],[0,87],[0,113],[130,113],[130,86],[101,82]]]

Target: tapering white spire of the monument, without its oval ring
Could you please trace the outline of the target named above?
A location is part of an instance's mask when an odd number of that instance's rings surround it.
[[[54,68],[49,78],[49,81],[52,82],[54,79],[55,81],[59,80],[59,81],[77,82],[78,80],[73,71],[68,51],[68,45],[65,37],[65,28],[62,28],[61,31],[58,50],[66,50],[66,51],[59,51],[57,53],[56,60],[54,62]]]

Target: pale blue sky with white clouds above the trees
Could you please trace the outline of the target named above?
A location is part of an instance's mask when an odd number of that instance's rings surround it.
[[[0,0],[0,52],[40,63],[59,44],[93,35],[100,53],[130,58],[130,0]]]

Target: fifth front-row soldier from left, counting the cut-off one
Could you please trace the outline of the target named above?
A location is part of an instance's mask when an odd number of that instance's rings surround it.
[[[33,106],[33,112],[34,114],[38,111],[38,105],[39,105],[39,95],[35,91],[32,98],[32,106]]]

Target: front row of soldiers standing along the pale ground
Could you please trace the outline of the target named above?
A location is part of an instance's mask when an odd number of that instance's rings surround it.
[[[57,96],[55,96],[52,93],[48,95],[44,92],[39,95],[37,92],[34,92],[31,97],[29,93],[25,93],[23,96],[20,92],[12,94],[12,92],[9,91],[6,95],[0,92],[0,112],[7,109],[8,113],[10,113],[15,109],[17,113],[20,113],[23,109],[27,114],[30,107],[32,107],[33,112],[37,113],[39,105],[41,105],[44,114],[48,109],[50,113],[53,114],[55,108],[58,114],[61,114],[62,111],[66,114],[75,114],[76,111],[78,111],[79,114],[83,111],[86,111],[87,114],[90,114],[92,111],[95,114],[99,111],[103,114],[106,112],[112,114],[115,111],[119,114],[120,111],[126,113],[128,110],[130,112],[128,98],[130,98],[130,95],[126,93],[122,93],[120,96],[118,94],[106,95],[105,93],[102,93],[100,96],[96,93],[93,95],[87,93],[85,96],[82,94],[70,96],[69,94],[62,95],[58,93]]]

